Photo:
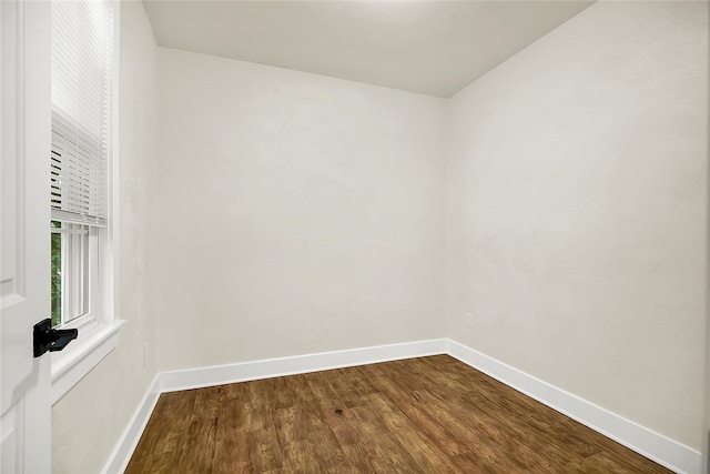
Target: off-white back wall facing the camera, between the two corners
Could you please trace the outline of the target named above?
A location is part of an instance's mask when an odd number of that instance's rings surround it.
[[[160,58],[161,370],[444,334],[443,99]]]

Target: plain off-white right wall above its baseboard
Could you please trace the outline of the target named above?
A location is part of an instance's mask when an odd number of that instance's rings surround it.
[[[448,335],[693,448],[707,87],[707,3],[598,2],[449,118]]]

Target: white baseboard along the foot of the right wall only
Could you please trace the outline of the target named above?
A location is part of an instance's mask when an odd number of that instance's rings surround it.
[[[702,454],[677,441],[455,341],[446,353],[671,471],[702,473]]]

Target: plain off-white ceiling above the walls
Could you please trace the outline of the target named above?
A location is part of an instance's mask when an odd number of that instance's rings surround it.
[[[143,3],[162,47],[448,98],[594,2]]]

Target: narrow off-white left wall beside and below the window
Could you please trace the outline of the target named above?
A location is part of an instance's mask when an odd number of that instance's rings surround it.
[[[52,472],[99,473],[156,373],[158,47],[141,2],[121,2],[119,346],[52,407]],[[148,363],[143,365],[143,345]]]

